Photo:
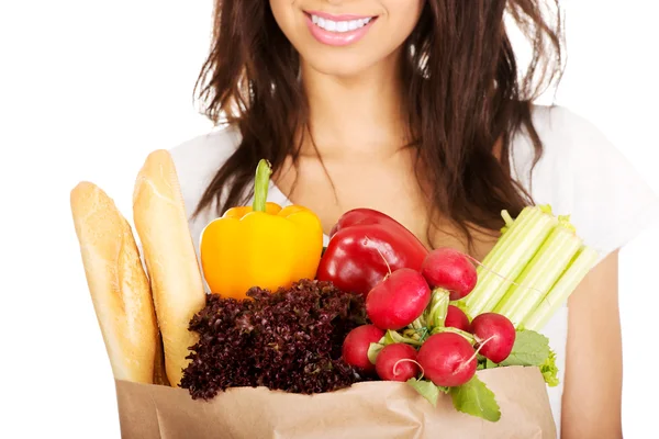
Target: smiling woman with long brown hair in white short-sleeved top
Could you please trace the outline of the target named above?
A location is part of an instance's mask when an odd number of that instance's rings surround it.
[[[312,209],[325,232],[345,211],[372,207],[428,248],[482,259],[502,209],[571,214],[602,260],[544,330],[561,371],[551,405],[563,438],[619,438],[617,251],[657,203],[592,124],[530,103],[560,76],[548,63],[560,60],[560,29],[543,7],[217,1],[200,85],[222,126],[172,156],[197,246],[212,218],[249,202],[260,158],[275,168],[269,200]],[[533,48],[521,80],[504,16]]]

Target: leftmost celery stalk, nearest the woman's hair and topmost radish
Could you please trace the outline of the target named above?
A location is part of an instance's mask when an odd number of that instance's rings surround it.
[[[554,215],[534,207],[520,224],[513,224],[505,234],[511,235],[506,245],[498,243],[483,262],[487,268],[480,267],[477,285],[466,297],[470,315],[491,312],[499,304],[510,282],[517,279],[557,223]]]

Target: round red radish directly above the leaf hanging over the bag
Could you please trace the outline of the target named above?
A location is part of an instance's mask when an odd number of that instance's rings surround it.
[[[465,337],[439,333],[428,337],[416,356],[424,375],[435,385],[462,385],[476,373],[476,351]]]

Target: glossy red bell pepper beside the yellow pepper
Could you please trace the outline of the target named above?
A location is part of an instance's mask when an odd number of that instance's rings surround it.
[[[316,278],[366,296],[390,270],[421,270],[427,255],[418,238],[392,217],[355,209],[332,228]]]

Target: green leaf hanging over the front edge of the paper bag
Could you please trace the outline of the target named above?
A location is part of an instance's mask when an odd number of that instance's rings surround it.
[[[473,375],[467,383],[450,389],[454,407],[458,412],[478,416],[491,423],[501,418],[501,409],[494,397],[494,392],[485,383]]]

